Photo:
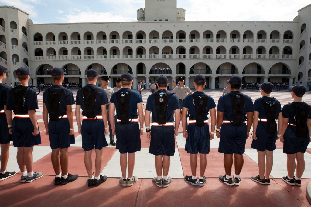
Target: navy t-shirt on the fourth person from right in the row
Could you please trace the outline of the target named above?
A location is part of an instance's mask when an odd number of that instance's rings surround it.
[[[196,96],[202,97],[202,96],[207,96],[204,92],[202,91],[196,91],[193,93]],[[189,119],[191,120],[196,120],[196,111],[195,111],[195,105],[194,105],[194,101],[193,101],[193,96],[188,95],[185,97],[185,99],[183,100],[183,107],[188,108],[188,113],[189,113]],[[208,96],[207,99],[207,108],[206,108],[206,113],[205,113],[205,118],[204,120],[207,120],[208,117],[208,111],[212,108],[215,108],[216,104],[214,99],[211,96]]]

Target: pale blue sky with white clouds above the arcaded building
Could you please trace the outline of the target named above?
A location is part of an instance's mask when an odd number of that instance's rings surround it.
[[[186,21],[292,21],[310,0],[177,0]],[[144,0],[0,0],[30,14],[35,24],[137,21]]]

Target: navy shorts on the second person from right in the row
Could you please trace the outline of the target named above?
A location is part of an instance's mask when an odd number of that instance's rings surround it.
[[[264,124],[265,128],[262,126]],[[258,126],[256,130],[257,140],[253,140],[251,147],[258,151],[273,151],[276,149],[276,137],[277,130],[275,130],[274,134],[268,134],[266,131],[267,122],[258,121]],[[254,136],[254,135],[253,135]]]

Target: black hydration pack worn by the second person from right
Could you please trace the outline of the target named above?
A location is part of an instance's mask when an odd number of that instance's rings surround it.
[[[274,98],[275,99],[275,98]],[[263,128],[265,128],[268,134],[274,134],[276,131],[276,113],[277,113],[277,104],[276,101],[264,101],[262,98],[259,98],[262,102],[263,108],[265,110],[266,118],[267,118],[267,128],[262,123]],[[260,119],[260,118],[259,118]]]

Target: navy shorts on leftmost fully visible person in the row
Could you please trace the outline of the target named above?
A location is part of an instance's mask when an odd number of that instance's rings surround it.
[[[34,125],[30,118],[17,118],[12,120],[12,140],[14,147],[32,147],[41,144],[40,133],[33,136]],[[40,132],[40,130],[39,130]]]

